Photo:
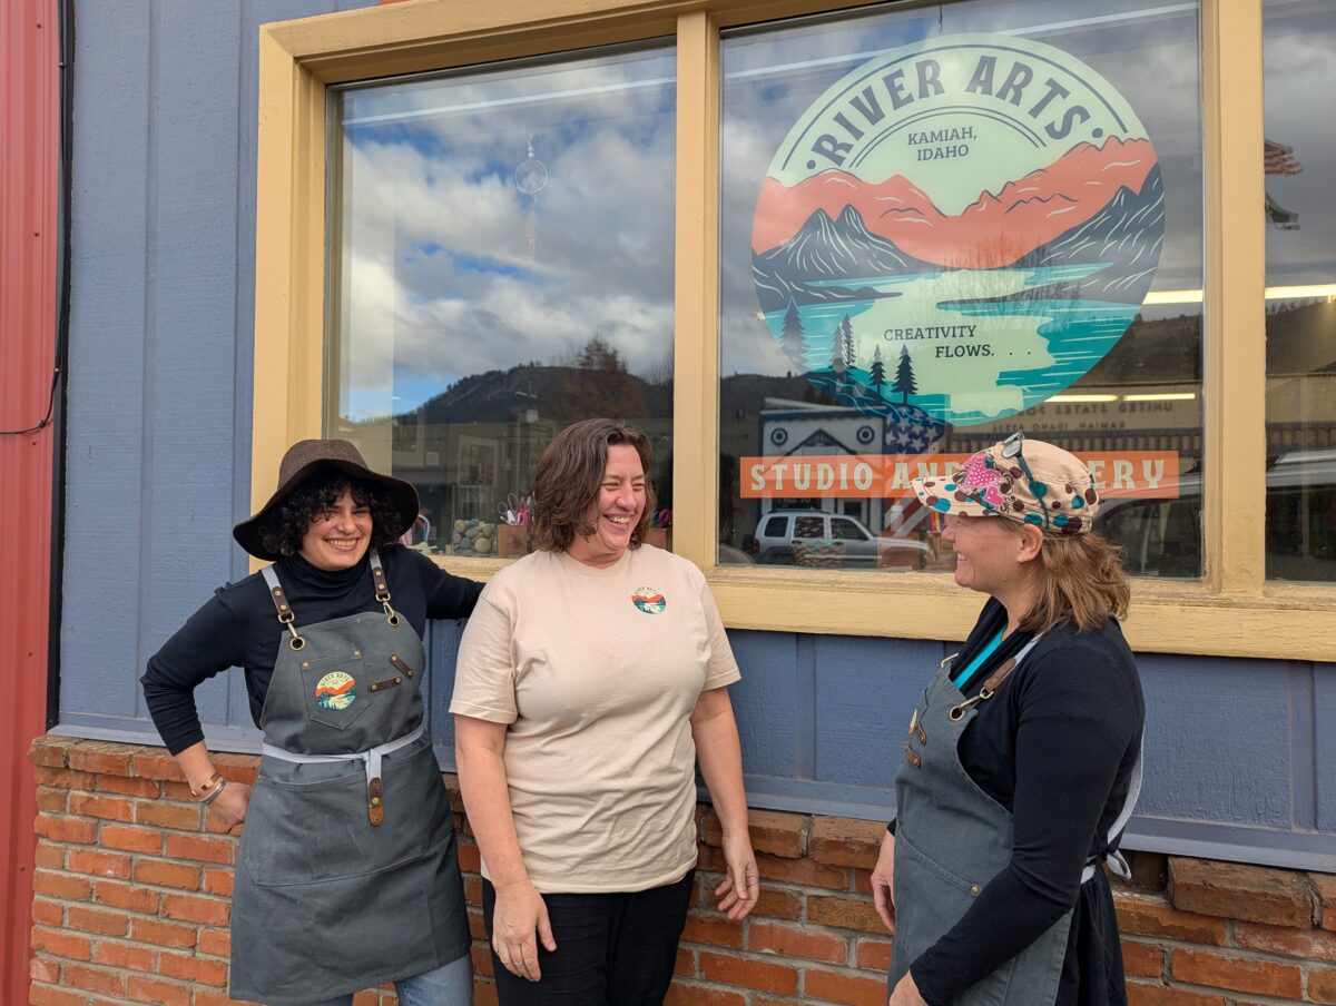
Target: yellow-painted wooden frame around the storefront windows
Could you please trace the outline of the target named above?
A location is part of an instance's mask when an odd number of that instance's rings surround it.
[[[715,558],[719,31],[878,0],[409,0],[267,24],[259,37],[251,496],[325,414],[326,87],[672,36],[677,52],[673,546],[731,628],[963,639],[978,599],[946,576],[815,574]],[[969,0],[961,0],[969,3]],[[1075,0],[1073,0],[1075,3]],[[1265,576],[1261,0],[1202,0],[1205,576],[1138,580],[1141,651],[1331,660],[1336,585]],[[1229,407],[1221,407],[1228,403]],[[1228,444],[1228,449],[1226,445]],[[452,558],[485,578],[496,560]]]

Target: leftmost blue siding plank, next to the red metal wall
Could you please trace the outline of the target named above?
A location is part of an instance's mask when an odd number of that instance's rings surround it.
[[[88,9],[86,9],[86,7]],[[61,693],[136,725],[143,578],[148,9],[76,12]],[[81,349],[92,347],[92,358]],[[73,671],[80,668],[80,671]],[[87,671],[84,671],[87,668]],[[112,668],[120,673],[112,672]],[[75,704],[76,703],[76,704]]]

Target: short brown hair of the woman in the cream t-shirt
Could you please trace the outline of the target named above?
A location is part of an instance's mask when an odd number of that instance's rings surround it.
[[[599,486],[608,470],[608,448],[619,444],[635,448],[645,469],[645,512],[631,533],[631,548],[640,548],[655,512],[655,489],[649,482],[655,452],[649,437],[613,420],[581,420],[561,430],[538,458],[529,530],[534,549],[564,552],[577,534],[593,533],[589,506],[599,500]]]

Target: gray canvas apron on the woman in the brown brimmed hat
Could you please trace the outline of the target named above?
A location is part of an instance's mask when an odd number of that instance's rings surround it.
[[[422,640],[390,607],[298,627],[263,570],[279,644],[232,895],[232,998],[306,1003],[469,951],[450,803],[422,729]]]

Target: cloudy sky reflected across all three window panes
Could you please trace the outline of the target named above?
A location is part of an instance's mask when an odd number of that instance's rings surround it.
[[[724,43],[723,373],[790,369],[758,318],[749,235],[788,127],[876,52],[961,32],[1019,33],[1090,64],[1128,99],[1160,155],[1165,246],[1154,289],[1201,285],[1201,116],[1194,3],[943,4],[808,19]],[[1267,0],[1267,135],[1304,174],[1268,178],[1300,230],[1268,228],[1268,282],[1336,275],[1336,12]],[[671,351],[675,52],[660,44],[343,92],[335,253],[341,393],[350,417],[406,411],[460,377],[552,362],[599,334],[633,373]],[[1327,123],[1327,126],[1321,126]],[[516,187],[528,156],[548,171]],[[532,247],[530,247],[532,244]]]

